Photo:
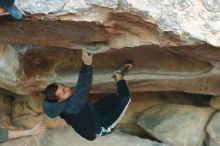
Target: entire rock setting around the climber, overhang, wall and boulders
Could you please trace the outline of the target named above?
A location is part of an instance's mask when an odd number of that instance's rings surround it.
[[[43,135],[2,146],[219,146],[219,0],[17,0],[20,21],[0,16],[0,126]],[[41,103],[52,82],[75,86],[81,49],[94,53],[90,99],[115,92],[127,59],[132,102],[109,136],[79,137]]]

